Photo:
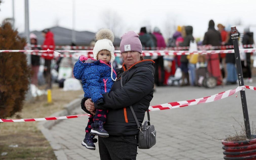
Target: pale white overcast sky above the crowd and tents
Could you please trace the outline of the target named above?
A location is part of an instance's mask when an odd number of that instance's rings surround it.
[[[0,23],[12,17],[12,0],[2,0]],[[24,0],[14,0],[15,27],[24,31]],[[256,1],[236,0],[75,0],[75,29],[97,31],[104,26],[104,13],[120,17],[120,33],[139,32],[142,26],[159,27],[166,36],[167,26],[191,25],[194,37],[203,37],[210,19],[223,25],[235,25],[241,20],[244,26],[256,26]],[[71,0],[29,0],[30,31],[56,26],[72,29]],[[117,22],[116,22],[117,23]]]

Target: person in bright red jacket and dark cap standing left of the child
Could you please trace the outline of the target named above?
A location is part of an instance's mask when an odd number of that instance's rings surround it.
[[[42,30],[42,35],[45,37],[42,50],[47,50],[47,49],[54,50],[55,49],[55,43],[53,39],[54,34],[49,29],[44,29]],[[44,77],[47,83],[46,89],[50,89],[51,88],[51,60],[54,58],[54,56],[53,56],[53,52],[46,52],[46,53],[48,53],[47,56],[42,55],[42,58],[45,59]]]

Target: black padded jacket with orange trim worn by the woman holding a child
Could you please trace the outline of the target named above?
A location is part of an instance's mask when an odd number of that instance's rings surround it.
[[[130,105],[141,125],[145,111],[150,105],[154,92],[154,61],[142,60],[129,69],[125,65],[117,69],[118,79],[113,84],[109,93],[103,94],[103,103],[94,104],[96,109],[109,110],[104,129],[110,135],[124,136],[138,134],[138,128],[132,115]],[[123,75],[123,87],[120,77]],[[85,106],[84,98],[81,107],[89,113]]]

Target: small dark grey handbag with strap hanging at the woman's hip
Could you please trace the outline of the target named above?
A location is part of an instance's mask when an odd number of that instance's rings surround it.
[[[123,75],[121,76],[121,87],[123,87]],[[156,130],[154,125],[150,125],[150,116],[149,111],[147,109],[147,121],[144,122],[142,126],[140,126],[138,119],[134,113],[132,106],[130,105],[130,109],[138,126],[139,134],[138,134],[138,148],[140,149],[149,149],[153,145],[156,144]]]

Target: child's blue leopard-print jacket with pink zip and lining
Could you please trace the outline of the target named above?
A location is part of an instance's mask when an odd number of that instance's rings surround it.
[[[91,98],[94,103],[103,102],[102,94],[110,92],[114,81],[111,78],[111,66],[101,60],[80,56],[74,65],[74,77],[82,80],[84,97]],[[113,70],[113,79],[116,72]]]

